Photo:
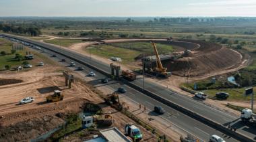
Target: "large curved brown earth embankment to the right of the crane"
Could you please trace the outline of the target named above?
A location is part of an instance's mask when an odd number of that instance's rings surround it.
[[[174,62],[164,62],[164,66],[172,74],[200,76],[219,70],[236,68],[243,62],[241,54],[218,44],[191,40],[189,42],[200,45],[200,48],[193,50],[193,56],[191,54]]]

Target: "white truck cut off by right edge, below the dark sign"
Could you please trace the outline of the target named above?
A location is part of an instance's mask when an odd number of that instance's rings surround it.
[[[253,114],[253,111],[251,109],[243,109],[241,111],[241,120],[245,123],[251,123],[253,126],[256,126],[256,116]]]

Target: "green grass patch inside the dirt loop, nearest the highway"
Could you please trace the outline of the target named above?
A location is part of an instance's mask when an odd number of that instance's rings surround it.
[[[134,58],[141,54],[141,52],[135,50],[117,48],[109,45],[91,46],[90,48],[86,48],[86,51],[105,58],[110,58],[112,56],[119,57],[122,58],[122,62],[124,63],[133,62]]]

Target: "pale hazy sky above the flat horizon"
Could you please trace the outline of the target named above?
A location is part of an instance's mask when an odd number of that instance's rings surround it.
[[[256,17],[256,0],[0,0],[0,16]]]

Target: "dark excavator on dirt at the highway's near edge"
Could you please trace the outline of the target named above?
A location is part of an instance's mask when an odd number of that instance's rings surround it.
[[[104,100],[107,104],[114,106],[119,111],[123,109],[123,106],[121,105],[119,100],[119,94],[117,92],[113,92],[112,94],[107,94]]]

